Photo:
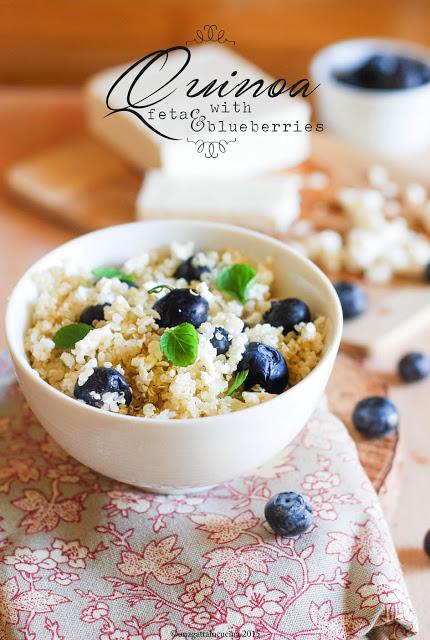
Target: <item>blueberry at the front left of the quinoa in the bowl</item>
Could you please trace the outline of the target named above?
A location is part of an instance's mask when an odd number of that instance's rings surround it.
[[[95,367],[94,372],[83,385],[75,384],[74,396],[77,400],[83,400],[92,407],[100,408],[103,405],[101,396],[104,393],[122,393],[125,404],[131,402],[131,389],[124,376],[111,367]]]

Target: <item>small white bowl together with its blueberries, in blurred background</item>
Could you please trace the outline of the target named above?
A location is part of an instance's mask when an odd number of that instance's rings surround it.
[[[324,47],[311,61],[318,121],[383,159],[424,151],[430,145],[429,69],[429,49],[394,38]]]

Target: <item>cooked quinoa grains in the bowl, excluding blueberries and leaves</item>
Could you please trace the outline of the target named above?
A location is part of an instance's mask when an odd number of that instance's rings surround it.
[[[193,265],[204,267],[199,280],[175,277],[175,271],[193,256]],[[220,271],[228,265],[248,263],[256,270],[242,304],[216,286]],[[118,277],[97,279],[85,265],[64,264],[35,274],[37,300],[25,334],[25,348],[32,367],[50,385],[75,397],[96,367],[114,368],[131,390],[126,404],[123,393],[107,391],[97,397],[100,408],[144,418],[197,418],[237,411],[272,397],[260,386],[240,388],[226,395],[249,343],[277,349],[288,366],[288,385],[302,380],[316,366],[324,351],[326,322],[323,317],[297,324],[283,335],[263,316],[271,308],[273,273],[271,259],[253,264],[235,250],[194,252],[192,243],[142,253],[128,259],[121,271],[132,275],[136,286]],[[157,285],[191,288],[209,306],[207,321],[197,327],[197,359],[180,367],[161,350],[160,338],[168,330],[158,325],[154,309],[166,290],[149,293]],[[56,348],[53,337],[65,325],[79,322],[84,309],[105,305],[104,320],[71,349]],[[229,348],[217,355],[211,340],[228,334]],[[218,333],[217,333],[218,331]],[[115,374],[116,375],[116,374]]]

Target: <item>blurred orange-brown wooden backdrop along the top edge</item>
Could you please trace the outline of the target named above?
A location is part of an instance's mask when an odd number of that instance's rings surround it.
[[[192,39],[208,22],[276,77],[300,77],[315,51],[344,38],[430,44],[427,0],[3,0],[0,8],[0,78],[13,85],[76,85]]]

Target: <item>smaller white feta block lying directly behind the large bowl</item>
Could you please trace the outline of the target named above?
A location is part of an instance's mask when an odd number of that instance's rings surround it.
[[[145,174],[137,217],[204,219],[282,233],[299,215],[300,185],[295,175],[196,180],[155,169]]]

